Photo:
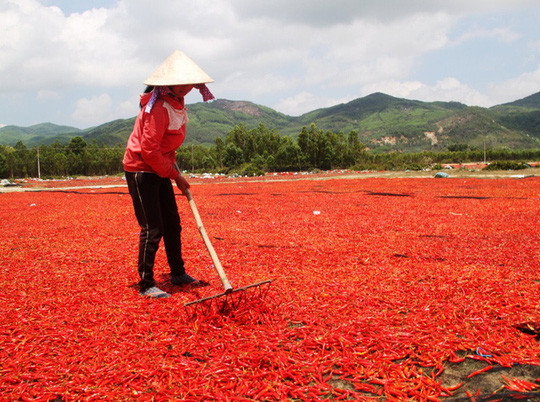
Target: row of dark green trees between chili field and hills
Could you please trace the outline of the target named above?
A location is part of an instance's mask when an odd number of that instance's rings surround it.
[[[184,145],[177,162],[187,171],[237,172],[262,174],[265,171],[313,169],[401,170],[422,169],[434,164],[487,160],[537,160],[540,150],[479,150],[453,144],[446,152],[372,153],[358,134],[333,133],[314,124],[304,127],[297,139],[282,136],[264,124],[247,129],[238,125],[213,146]],[[74,137],[69,144],[55,142],[27,148],[0,146],[0,178],[103,176],[123,171],[123,147],[87,144]]]

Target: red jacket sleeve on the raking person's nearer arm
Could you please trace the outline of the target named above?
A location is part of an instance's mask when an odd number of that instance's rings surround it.
[[[174,163],[161,150],[163,135],[169,126],[169,114],[161,105],[154,105],[150,113],[144,113],[141,135],[141,155],[144,161],[160,176],[176,179],[178,172]]]

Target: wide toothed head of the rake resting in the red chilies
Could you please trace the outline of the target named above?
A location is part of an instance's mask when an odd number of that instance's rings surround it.
[[[195,318],[198,313],[208,315],[213,311],[222,315],[229,314],[244,303],[263,299],[270,289],[272,280],[267,279],[241,288],[228,289],[223,293],[184,303],[184,310],[190,319]]]

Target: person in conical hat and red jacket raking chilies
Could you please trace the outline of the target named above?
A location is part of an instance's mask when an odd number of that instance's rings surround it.
[[[204,101],[214,99],[206,84],[214,80],[180,50],[173,52],[145,81],[139,114],[123,158],[135,216],[141,228],[137,269],[139,293],[150,298],[170,294],[156,286],[154,261],[163,239],[173,285],[201,283],[186,273],[182,226],[172,181],[182,194],[190,187],[176,169],[176,150],[188,121],[184,97],[197,88]]]

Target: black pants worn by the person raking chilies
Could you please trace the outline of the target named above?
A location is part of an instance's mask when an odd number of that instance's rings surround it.
[[[141,291],[155,286],[154,261],[161,238],[165,244],[171,275],[185,273],[182,259],[180,216],[170,179],[154,173],[126,172],[135,216],[141,227],[138,270]]]

